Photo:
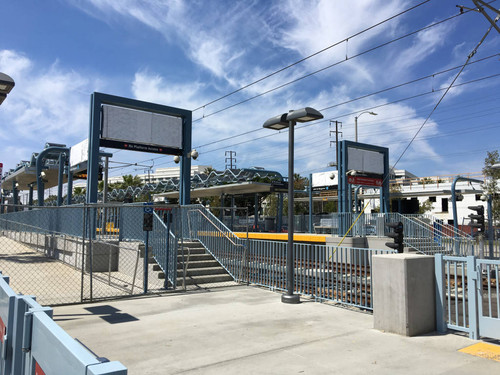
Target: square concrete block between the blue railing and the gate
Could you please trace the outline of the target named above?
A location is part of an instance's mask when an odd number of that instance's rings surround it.
[[[434,257],[374,255],[374,328],[404,336],[436,330]]]

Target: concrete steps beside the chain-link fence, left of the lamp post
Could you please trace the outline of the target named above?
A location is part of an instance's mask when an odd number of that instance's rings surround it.
[[[153,259],[154,261],[154,259]],[[177,254],[177,287],[184,282],[183,270],[186,268],[186,286],[214,287],[234,282],[227,271],[198,242],[184,242]],[[159,279],[165,279],[160,266],[155,264],[153,270],[158,272]]]

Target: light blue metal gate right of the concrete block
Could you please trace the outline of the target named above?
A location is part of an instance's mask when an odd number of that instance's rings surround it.
[[[442,254],[435,260],[437,330],[500,339],[500,260]]]

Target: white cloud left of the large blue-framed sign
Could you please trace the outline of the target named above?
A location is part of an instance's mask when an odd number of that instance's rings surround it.
[[[98,79],[91,82],[57,62],[40,69],[12,50],[0,50],[0,71],[16,82],[0,110],[0,140],[15,150],[3,154],[8,168],[43,149],[46,142],[71,146],[87,137],[89,93],[98,87]]]

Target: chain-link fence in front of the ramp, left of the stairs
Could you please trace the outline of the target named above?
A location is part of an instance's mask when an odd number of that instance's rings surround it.
[[[16,292],[37,295],[41,302],[50,305],[141,294],[145,273],[151,276],[147,278],[148,289],[161,291],[165,288],[164,280],[153,265],[144,267],[141,262],[143,206],[127,208],[125,213],[120,206],[93,205],[2,214],[0,270],[12,275]],[[127,218],[120,220],[121,216]],[[42,227],[26,224],[30,221]],[[158,218],[156,221],[161,224]],[[172,226],[175,224],[176,220]],[[162,248],[166,244],[164,229],[155,225],[157,233],[153,231],[151,235],[156,253],[153,255],[162,265],[168,251]],[[120,235],[128,240],[119,241]],[[177,237],[169,237],[169,280],[175,287]]]

